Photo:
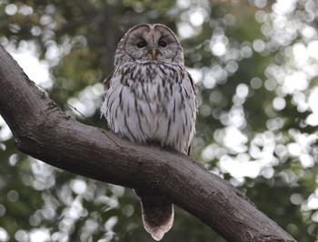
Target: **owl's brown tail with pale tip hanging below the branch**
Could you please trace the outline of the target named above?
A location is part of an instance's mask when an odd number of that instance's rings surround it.
[[[171,201],[156,195],[136,191],[142,205],[144,229],[159,241],[174,223],[174,206]]]

